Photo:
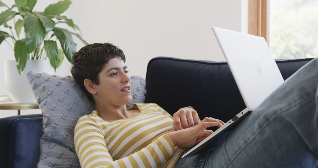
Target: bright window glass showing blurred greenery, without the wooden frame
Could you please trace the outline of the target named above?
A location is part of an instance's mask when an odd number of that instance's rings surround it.
[[[318,57],[318,0],[269,3],[269,48],[273,57]]]

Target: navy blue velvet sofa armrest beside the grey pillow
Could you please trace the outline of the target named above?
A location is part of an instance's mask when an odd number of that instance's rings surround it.
[[[0,118],[0,165],[36,167],[40,156],[42,114]]]

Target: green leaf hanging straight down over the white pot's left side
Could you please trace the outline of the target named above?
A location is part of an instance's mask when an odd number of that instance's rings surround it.
[[[25,68],[26,59],[28,57],[28,53],[26,52],[25,39],[17,40],[16,43],[14,44],[14,56],[17,61],[18,72],[21,75],[21,72]]]

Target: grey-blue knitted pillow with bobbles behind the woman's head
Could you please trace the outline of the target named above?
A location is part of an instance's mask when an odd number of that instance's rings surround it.
[[[59,77],[29,70],[27,78],[43,112],[43,136],[40,140],[38,167],[80,167],[74,149],[74,127],[79,117],[94,110],[72,76]],[[131,77],[132,101],[143,103],[146,82]]]

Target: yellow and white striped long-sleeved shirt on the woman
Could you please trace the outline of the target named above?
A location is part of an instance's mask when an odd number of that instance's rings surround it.
[[[172,116],[157,104],[134,104],[140,114],[106,122],[94,110],[79,118],[74,146],[81,167],[173,167],[185,149],[166,133]],[[128,110],[129,110],[128,109]]]

